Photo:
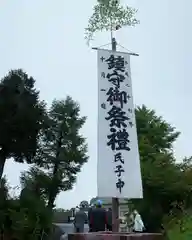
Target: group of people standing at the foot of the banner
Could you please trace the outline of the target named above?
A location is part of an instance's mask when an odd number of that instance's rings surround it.
[[[143,232],[144,224],[140,214],[134,210],[134,232]],[[76,233],[84,232],[84,225],[88,222],[89,232],[112,231],[112,209],[106,210],[102,207],[102,201],[97,200],[96,203],[88,210],[88,215],[84,211],[84,206],[81,206],[75,213],[74,228]]]

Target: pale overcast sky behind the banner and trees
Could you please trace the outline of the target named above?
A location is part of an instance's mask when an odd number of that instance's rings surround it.
[[[175,144],[177,159],[192,155],[192,1],[127,0],[139,9],[141,24],[118,31],[118,42],[138,52],[132,57],[134,102],[146,104],[182,132]],[[89,162],[70,192],[57,199],[70,208],[96,195],[97,56],[86,45],[84,28],[94,0],[1,0],[0,77],[23,68],[37,81],[41,98],[71,95],[88,117],[82,133],[89,146]],[[93,46],[110,42],[109,33],[97,34]],[[122,49],[120,49],[122,51]],[[26,165],[6,163],[12,186],[19,184]]]

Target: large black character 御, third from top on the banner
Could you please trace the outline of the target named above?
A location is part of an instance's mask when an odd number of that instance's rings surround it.
[[[116,87],[114,88],[109,88],[109,91],[107,92],[107,95],[109,96],[107,98],[107,101],[110,103],[110,105],[113,105],[114,102],[119,102],[121,105],[121,108],[123,108],[123,104],[127,103],[127,92],[125,91],[119,91],[119,89]]]

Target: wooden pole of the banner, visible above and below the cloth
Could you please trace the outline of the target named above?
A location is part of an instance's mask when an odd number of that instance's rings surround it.
[[[111,38],[112,50],[116,51],[117,42]],[[119,232],[119,199],[112,198],[112,231]]]

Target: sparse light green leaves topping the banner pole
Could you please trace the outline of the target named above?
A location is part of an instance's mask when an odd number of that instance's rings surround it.
[[[88,26],[85,29],[85,39],[89,43],[96,32],[115,31],[123,26],[135,26],[139,21],[135,18],[137,10],[124,7],[119,0],[97,0],[93,8]]]

